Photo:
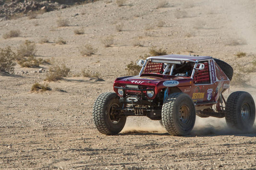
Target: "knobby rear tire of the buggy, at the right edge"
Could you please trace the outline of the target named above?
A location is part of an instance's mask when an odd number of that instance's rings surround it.
[[[234,129],[248,131],[255,120],[255,103],[253,97],[245,91],[230,94],[226,105],[227,125]]]

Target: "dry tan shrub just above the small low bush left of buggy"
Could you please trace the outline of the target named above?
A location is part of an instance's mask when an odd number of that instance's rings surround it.
[[[64,64],[60,66],[54,66],[49,68],[49,72],[46,75],[46,81],[56,81],[62,79],[63,77],[67,77],[70,69],[67,68]]]

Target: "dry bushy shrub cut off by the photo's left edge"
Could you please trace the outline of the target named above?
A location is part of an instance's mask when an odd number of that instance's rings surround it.
[[[0,48],[0,71],[13,72],[16,55],[12,52],[11,47]]]

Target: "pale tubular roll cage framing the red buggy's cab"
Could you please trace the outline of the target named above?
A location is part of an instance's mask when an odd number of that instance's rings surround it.
[[[193,60],[193,59],[185,59],[185,58],[177,59],[177,58],[165,58],[165,57],[148,57],[148,58],[146,58],[145,63],[143,64],[143,66],[140,70],[139,76],[142,75],[144,69],[146,68],[146,65],[147,65],[148,61],[152,61],[152,62],[156,62],[156,63],[167,63],[167,66],[164,69],[164,72],[162,74],[166,74],[166,72],[168,71],[168,69],[171,65],[170,75],[172,75],[172,73],[173,73],[173,69],[174,69],[175,64],[182,64],[182,62],[184,62],[184,61],[189,61],[189,62],[195,63],[192,74],[190,76],[190,78],[193,79],[194,75],[195,75],[195,70],[196,70],[197,64],[200,64],[199,61],[207,61],[208,68],[209,68],[209,78],[210,78],[210,83],[209,84],[212,84],[214,82],[212,81],[212,77],[211,77],[210,73],[211,73],[213,68],[211,68],[210,60],[212,60],[212,58],[211,59],[202,59],[202,60]]]

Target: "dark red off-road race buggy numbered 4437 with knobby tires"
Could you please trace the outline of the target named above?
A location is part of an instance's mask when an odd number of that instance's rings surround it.
[[[232,92],[232,67],[208,56],[166,55],[138,60],[138,76],[117,78],[114,91],[102,93],[93,106],[98,131],[121,132],[127,116],[160,120],[171,135],[183,136],[200,117],[225,117],[231,128],[248,131],[255,121],[255,102],[245,91]]]

